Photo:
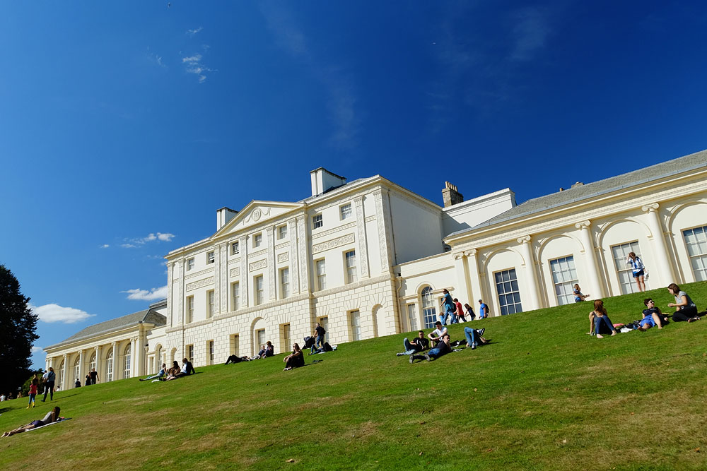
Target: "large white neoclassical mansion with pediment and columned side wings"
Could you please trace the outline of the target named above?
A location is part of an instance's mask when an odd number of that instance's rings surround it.
[[[375,177],[319,168],[312,196],[216,212],[216,233],[167,256],[168,297],[47,347],[67,388],[95,367],[103,381],[276,351],[310,335],[331,343],[429,328],[443,288],[491,315],[634,290],[626,254],[649,289],[707,280],[707,151],[520,205],[510,189],[444,207]]]

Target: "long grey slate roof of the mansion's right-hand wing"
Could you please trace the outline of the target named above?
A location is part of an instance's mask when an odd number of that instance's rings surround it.
[[[564,191],[558,191],[557,193],[540,196],[539,198],[530,199],[525,201],[525,203],[515,206],[515,208],[509,209],[505,213],[501,213],[496,217],[491,217],[491,219],[485,222],[481,222],[479,225],[453,232],[448,237],[480,229],[481,227],[491,226],[498,222],[527,217],[551,208],[578,203],[611,193],[612,191],[643,185],[649,181],[689,172],[701,167],[707,167],[707,150],[701,150],[700,152],[685,155],[684,157],[678,157],[677,159],[668,160],[667,162],[661,162],[660,164],[651,165],[650,167],[634,170],[633,172],[621,174],[617,177],[610,177],[593,183],[575,186],[574,188]]]

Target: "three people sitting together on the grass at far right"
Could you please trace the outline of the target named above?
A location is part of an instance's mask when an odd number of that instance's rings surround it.
[[[631,252],[633,254],[633,252]],[[672,294],[675,298],[675,302],[669,302],[668,307],[676,308],[672,314],[672,320],[674,322],[694,322],[699,321],[700,318],[697,316],[697,305],[689,297],[689,294],[680,290],[680,287],[675,283],[671,283],[667,287],[668,292]],[[662,327],[668,322],[667,314],[663,313],[658,306],[655,305],[655,301],[652,298],[643,299],[643,318],[638,321],[637,330],[645,332],[651,327]],[[588,334],[596,335],[597,338],[604,338],[603,333],[611,333],[611,335],[617,334],[617,328],[614,326],[612,321],[609,319],[609,314],[607,309],[604,308],[604,302],[601,299],[596,299],[594,302],[594,310],[589,313],[589,324],[590,329]]]

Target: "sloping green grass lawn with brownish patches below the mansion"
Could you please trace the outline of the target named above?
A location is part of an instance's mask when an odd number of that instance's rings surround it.
[[[707,283],[684,289],[703,310]],[[648,295],[672,311],[667,290]],[[640,318],[643,297],[606,299],[612,321]],[[407,335],[392,335],[294,371],[278,355],[62,391],[73,419],[0,439],[0,468],[705,469],[707,319],[600,340],[590,310],[474,321],[492,345],[431,363],[395,357]],[[7,404],[3,430],[50,407]]]

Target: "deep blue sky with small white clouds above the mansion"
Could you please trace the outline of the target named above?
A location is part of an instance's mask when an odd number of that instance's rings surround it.
[[[707,148],[702,2],[1,3],[0,263],[37,347],[323,166],[518,202]],[[132,298],[132,299],[131,299]],[[43,366],[37,352],[35,362]]]

